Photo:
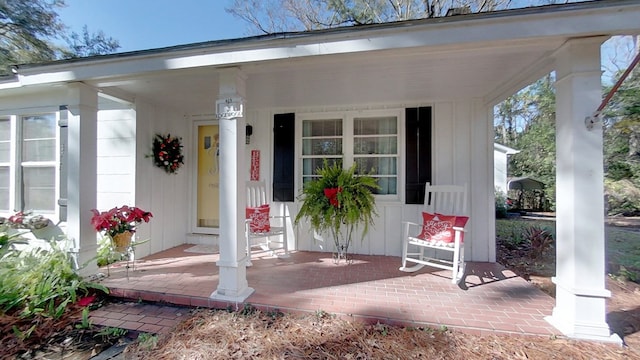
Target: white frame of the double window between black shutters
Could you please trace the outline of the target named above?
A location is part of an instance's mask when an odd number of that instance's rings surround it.
[[[335,112],[314,112],[314,113],[296,113],[296,180],[295,186],[298,191],[303,187],[303,160],[311,158],[313,156],[305,156],[302,154],[302,139],[303,139],[303,123],[304,121],[313,120],[331,120],[342,119],[342,161],[343,167],[349,168],[354,163],[355,156],[353,151],[354,146],[354,119],[355,118],[376,118],[376,117],[395,117],[396,118],[396,137],[397,137],[397,152],[396,152],[396,193],[388,195],[375,195],[377,201],[397,202],[402,198],[404,192],[404,150],[402,148],[401,139],[404,136],[404,114],[405,109],[383,109],[383,110],[361,110],[361,111],[335,111]],[[391,156],[391,155],[389,155]]]

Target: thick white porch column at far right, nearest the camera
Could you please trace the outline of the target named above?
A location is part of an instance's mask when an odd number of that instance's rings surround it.
[[[606,322],[602,127],[585,126],[602,98],[604,40],[572,40],[556,58],[556,306],[547,320],[572,338],[621,343]]]

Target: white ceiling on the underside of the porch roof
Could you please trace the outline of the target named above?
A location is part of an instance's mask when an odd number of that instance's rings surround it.
[[[513,83],[525,86],[527,81],[550,71],[549,55],[563,43],[564,39],[553,39],[508,46],[378,50],[240,67],[247,74],[248,108],[332,107],[468,97],[489,102],[501,88]],[[88,83],[106,93],[129,94],[187,115],[212,114],[218,98],[216,67]]]

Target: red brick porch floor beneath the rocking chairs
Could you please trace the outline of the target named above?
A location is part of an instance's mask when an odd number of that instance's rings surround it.
[[[218,285],[217,254],[190,253],[182,245],[136,262],[111,266],[102,283],[114,297],[190,307],[241,308],[209,298]],[[257,257],[247,268],[255,292],[246,303],[284,312],[315,312],[400,325],[447,326],[485,333],[560,335],[544,317],[549,297],[499,264],[468,263],[464,285],[450,273],[427,267],[398,270],[399,257],[354,255],[335,264],[330,253],[293,252],[288,259]],[[106,270],[106,269],[105,269]],[[105,271],[106,272],[106,271]],[[166,332],[188,309],[114,304],[94,311],[94,324]]]

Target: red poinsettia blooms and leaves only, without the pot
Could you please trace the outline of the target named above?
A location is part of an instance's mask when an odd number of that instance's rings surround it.
[[[127,205],[114,207],[103,212],[96,209],[91,211],[93,212],[91,218],[93,228],[112,238],[126,231],[135,232],[138,224],[143,221],[149,222],[149,219],[153,217],[149,211]]]

